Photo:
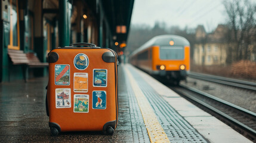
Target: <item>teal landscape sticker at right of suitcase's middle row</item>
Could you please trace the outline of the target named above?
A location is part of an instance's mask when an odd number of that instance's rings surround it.
[[[107,87],[107,70],[104,70],[104,69],[93,70],[93,86]]]

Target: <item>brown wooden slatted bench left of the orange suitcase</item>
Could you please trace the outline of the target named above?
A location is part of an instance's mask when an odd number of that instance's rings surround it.
[[[41,63],[35,53],[24,53],[21,50],[8,49],[8,55],[14,65],[21,65],[24,81],[27,82],[29,68],[48,67],[48,63]]]

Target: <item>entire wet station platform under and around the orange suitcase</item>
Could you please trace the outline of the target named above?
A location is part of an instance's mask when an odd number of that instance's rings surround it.
[[[129,64],[118,70],[119,120],[112,136],[51,136],[44,77],[1,83],[0,142],[251,142],[143,71]]]

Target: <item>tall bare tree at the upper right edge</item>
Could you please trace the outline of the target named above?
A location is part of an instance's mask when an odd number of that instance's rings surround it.
[[[250,58],[249,45],[251,33],[255,26],[255,3],[249,0],[223,1],[226,13],[229,17],[227,25],[230,27],[232,36],[230,42],[235,43],[236,61]]]

